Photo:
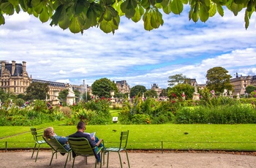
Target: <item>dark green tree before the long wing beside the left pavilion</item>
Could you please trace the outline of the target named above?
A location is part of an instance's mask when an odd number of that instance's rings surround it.
[[[48,96],[48,83],[34,82],[26,89],[26,96],[29,99],[44,100]]]

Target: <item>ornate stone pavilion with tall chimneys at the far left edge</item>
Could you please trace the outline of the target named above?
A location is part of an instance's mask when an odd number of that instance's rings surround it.
[[[31,82],[32,77],[26,72],[25,61],[22,64],[17,64],[15,61],[12,63],[1,61],[0,88],[5,92],[24,93]]]

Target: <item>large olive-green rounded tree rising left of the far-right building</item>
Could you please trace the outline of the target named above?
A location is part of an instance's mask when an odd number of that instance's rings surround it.
[[[230,84],[230,78],[232,76],[228,74],[228,71],[221,66],[208,69],[206,87],[214,90],[215,92],[222,93],[224,89],[233,91],[233,85]]]

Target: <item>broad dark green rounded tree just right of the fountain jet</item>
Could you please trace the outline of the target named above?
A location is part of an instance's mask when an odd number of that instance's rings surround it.
[[[99,97],[110,98],[110,91],[118,91],[116,84],[108,78],[104,77],[102,79],[94,81],[91,85],[91,90],[94,95]],[[117,92],[116,92],[117,93]]]

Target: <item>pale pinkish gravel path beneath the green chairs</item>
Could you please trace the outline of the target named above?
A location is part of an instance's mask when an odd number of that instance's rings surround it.
[[[36,153],[35,153],[36,154]],[[246,168],[256,167],[255,153],[213,153],[213,152],[129,152],[130,166],[134,168]],[[50,151],[39,151],[37,162],[31,159],[31,151],[0,152],[0,167],[64,167],[66,156],[58,154],[50,164]],[[125,153],[121,153],[123,167],[128,167]],[[94,157],[88,158],[85,164],[83,157],[75,159],[75,167],[94,167]],[[72,167],[72,160],[67,161],[67,167]],[[97,165],[99,167],[99,165]],[[103,166],[106,167],[106,164]],[[118,154],[110,153],[109,167],[120,167]]]

